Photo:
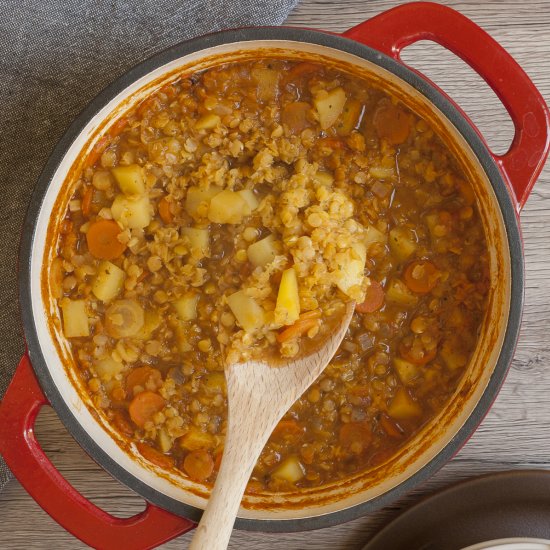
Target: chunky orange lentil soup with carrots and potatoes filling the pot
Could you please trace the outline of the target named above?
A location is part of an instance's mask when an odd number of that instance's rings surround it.
[[[211,483],[224,364],[319,345],[249,492],[387,460],[455,391],[489,259],[471,183],[430,125],[362,78],[259,59],[183,75],[85,159],[50,290],[93,403],[141,454]]]

